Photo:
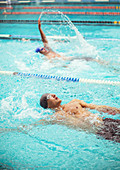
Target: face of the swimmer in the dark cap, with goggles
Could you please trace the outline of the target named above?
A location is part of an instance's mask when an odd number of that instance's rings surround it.
[[[50,108],[50,109],[59,107],[61,102],[62,102],[62,100],[59,99],[55,94],[49,94],[47,96],[48,108]]]

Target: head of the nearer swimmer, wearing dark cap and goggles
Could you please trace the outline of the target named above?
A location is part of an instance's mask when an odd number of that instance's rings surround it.
[[[54,109],[59,107],[62,100],[59,99],[55,94],[45,93],[40,98],[40,105],[44,108]]]

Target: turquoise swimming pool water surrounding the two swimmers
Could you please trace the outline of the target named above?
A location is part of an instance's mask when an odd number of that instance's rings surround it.
[[[20,6],[19,8],[21,8]],[[16,7],[17,8],[17,7]],[[18,9],[15,9],[18,11]],[[22,11],[22,9],[20,9]],[[35,19],[39,15],[7,15],[1,19]],[[42,16],[45,18],[45,16]],[[51,17],[51,20],[57,17]],[[59,18],[69,21],[65,16]],[[43,18],[43,19],[44,19]],[[118,20],[118,16],[69,15],[70,20]],[[46,18],[45,18],[46,19]],[[79,35],[79,32],[85,40]],[[73,60],[46,60],[35,54],[41,41],[0,40],[0,70],[40,73],[45,75],[77,78],[120,80],[120,34],[119,26],[43,24],[47,36],[69,37],[69,41],[49,39],[55,51],[66,56],[91,56],[109,62]],[[37,24],[0,24],[1,34],[39,36]],[[57,30],[57,31],[55,31]],[[72,39],[71,36],[76,36]],[[30,125],[52,114],[39,106],[43,93],[52,92],[63,100],[63,104],[74,98],[88,103],[120,106],[120,87],[115,85],[86,84],[1,75],[0,128],[16,128]],[[99,113],[98,113],[99,114]],[[120,119],[119,115],[101,116]],[[39,125],[27,129],[27,133],[0,133],[1,168],[7,169],[119,169],[120,144],[98,138],[94,134],[77,131],[61,125]]]

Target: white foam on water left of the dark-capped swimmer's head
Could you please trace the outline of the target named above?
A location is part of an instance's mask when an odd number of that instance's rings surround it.
[[[19,95],[19,94],[17,94]],[[22,94],[21,94],[22,95]],[[35,100],[36,94],[33,92],[25,92],[21,97],[17,97],[15,91],[9,97],[1,100],[1,126],[7,125],[10,127],[16,127],[22,123],[22,121],[30,124],[32,121],[36,121],[41,118],[46,118],[50,114],[50,110],[44,111],[40,107],[37,107],[32,100]],[[4,113],[4,115],[3,115]],[[18,122],[19,121],[19,122]]]

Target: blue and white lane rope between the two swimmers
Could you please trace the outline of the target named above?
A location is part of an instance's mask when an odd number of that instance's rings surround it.
[[[71,77],[61,77],[61,76],[52,76],[52,75],[43,75],[43,74],[31,74],[31,73],[22,73],[22,72],[13,72],[13,71],[0,71],[2,75],[13,75],[21,77],[33,77],[41,79],[54,79],[57,81],[67,81],[67,82],[79,82],[79,83],[90,83],[90,84],[104,84],[104,85],[117,85],[120,86],[119,81],[107,81],[107,80],[95,80],[95,79],[84,79],[84,78],[71,78]]]

